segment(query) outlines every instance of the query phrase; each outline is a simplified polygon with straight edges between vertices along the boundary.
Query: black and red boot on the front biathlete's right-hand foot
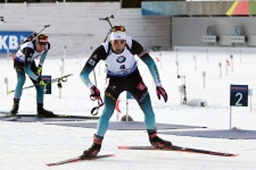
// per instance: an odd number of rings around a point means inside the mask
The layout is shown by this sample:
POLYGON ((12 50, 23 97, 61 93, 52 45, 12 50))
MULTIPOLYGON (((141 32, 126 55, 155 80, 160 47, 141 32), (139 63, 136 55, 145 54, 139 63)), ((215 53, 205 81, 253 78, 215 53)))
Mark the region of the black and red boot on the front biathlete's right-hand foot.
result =
POLYGON ((148 131, 148 136, 149 136, 149 141, 151 145, 155 148, 159 149, 170 149, 172 148, 173 144, 170 141, 163 140, 160 137, 158 137, 157 130, 147 130, 148 131))

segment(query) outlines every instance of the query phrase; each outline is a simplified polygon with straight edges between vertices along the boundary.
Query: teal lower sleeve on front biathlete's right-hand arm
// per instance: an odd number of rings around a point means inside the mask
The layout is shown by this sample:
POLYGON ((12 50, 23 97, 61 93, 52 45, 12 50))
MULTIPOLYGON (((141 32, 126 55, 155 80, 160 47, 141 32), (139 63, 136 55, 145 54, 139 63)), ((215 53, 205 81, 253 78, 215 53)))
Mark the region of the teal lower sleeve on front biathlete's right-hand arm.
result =
POLYGON ((144 54, 143 56, 140 57, 140 59, 149 68, 149 71, 154 79, 155 85, 160 86, 161 81, 160 81, 160 76, 159 76, 159 72, 158 72, 158 67, 157 67, 155 61, 152 59, 152 57, 149 54, 144 54))

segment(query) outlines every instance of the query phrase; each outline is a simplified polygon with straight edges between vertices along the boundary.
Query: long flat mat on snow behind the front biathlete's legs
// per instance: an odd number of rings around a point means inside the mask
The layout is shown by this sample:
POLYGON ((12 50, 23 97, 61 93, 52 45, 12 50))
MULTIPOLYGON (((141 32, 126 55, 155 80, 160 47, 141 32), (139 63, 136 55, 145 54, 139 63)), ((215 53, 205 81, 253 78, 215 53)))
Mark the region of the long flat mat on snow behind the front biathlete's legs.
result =
MULTIPOLYGON (((80 127, 80 128, 93 128, 96 129, 97 122, 59 122, 59 123, 47 123, 60 126, 70 126, 70 127, 80 127)), ((187 126, 187 125, 177 125, 177 124, 156 124, 158 130, 164 129, 191 129, 191 128, 206 128, 200 126, 187 126)), ((109 130, 145 130, 144 122, 140 121, 110 121, 109 130)))

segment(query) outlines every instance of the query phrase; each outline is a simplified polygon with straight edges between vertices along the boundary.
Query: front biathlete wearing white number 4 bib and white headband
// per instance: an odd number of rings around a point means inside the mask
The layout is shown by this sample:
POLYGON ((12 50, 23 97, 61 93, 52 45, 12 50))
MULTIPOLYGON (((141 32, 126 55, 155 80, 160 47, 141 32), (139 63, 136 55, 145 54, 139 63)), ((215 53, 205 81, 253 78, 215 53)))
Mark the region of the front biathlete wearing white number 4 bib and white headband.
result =
POLYGON ((161 85, 156 63, 149 55, 149 51, 136 40, 128 37, 125 28, 115 26, 110 34, 110 41, 102 43, 89 57, 80 73, 83 83, 91 90, 91 96, 100 99, 100 91, 93 85, 89 74, 96 67, 99 60, 105 62, 109 84, 104 93, 104 108, 98 120, 97 132, 94 135, 92 146, 83 152, 83 157, 95 157, 101 148, 101 142, 105 135, 109 119, 114 113, 115 103, 122 91, 129 91, 138 102, 145 115, 145 126, 152 146, 157 148, 170 148, 172 143, 158 137, 155 114, 152 109, 150 95, 144 84, 137 66, 135 55, 138 56, 149 68, 157 89, 158 99, 163 97, 167 102, 167 94, 161 85))

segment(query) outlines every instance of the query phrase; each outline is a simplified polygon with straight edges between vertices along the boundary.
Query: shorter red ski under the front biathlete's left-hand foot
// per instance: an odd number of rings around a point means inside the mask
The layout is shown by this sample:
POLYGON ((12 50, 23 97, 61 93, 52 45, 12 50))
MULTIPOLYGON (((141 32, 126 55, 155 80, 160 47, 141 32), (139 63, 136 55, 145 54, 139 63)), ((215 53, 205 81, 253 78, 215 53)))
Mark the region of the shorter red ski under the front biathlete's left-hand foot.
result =
POLYGON ((107 157, 112 157, 112 156, 115 156, 115 154, 102 154, 102 155, 98 155, 94 158, 82 158, 81 156, 78 156, 78 157, 66 159, 66 160, 59 161, 59 162, 48 163, 46 165, 48 167, 52 167, 52 166, 75 163, 75 162, 80 162, 80 161, 90 161, 90 160, 96 160, 96 159, 101 159, 101 158, 107 158, 107 157))

